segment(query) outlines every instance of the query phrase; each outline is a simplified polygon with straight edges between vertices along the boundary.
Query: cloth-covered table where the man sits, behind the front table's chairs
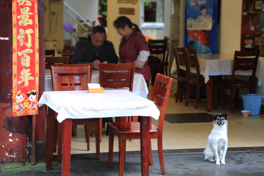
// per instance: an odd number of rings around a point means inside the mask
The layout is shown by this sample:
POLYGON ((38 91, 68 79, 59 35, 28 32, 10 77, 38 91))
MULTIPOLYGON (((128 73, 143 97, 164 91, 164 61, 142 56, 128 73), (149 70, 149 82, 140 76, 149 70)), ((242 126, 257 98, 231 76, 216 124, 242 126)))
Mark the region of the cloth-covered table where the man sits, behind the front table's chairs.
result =
MULTIPOLYGON (((99 84, 99 70, 93 69, 91 76, 91 83, 99 84)), ((127 88, 129 89, 129 88, 127 88)), ((50 69, 45 69, 45 91, 52 91, 52 79, 50 69)), ((144 79, 140 73, 134 73, 133 90, 135 94, 147 98, 149 90, 144 79)))

